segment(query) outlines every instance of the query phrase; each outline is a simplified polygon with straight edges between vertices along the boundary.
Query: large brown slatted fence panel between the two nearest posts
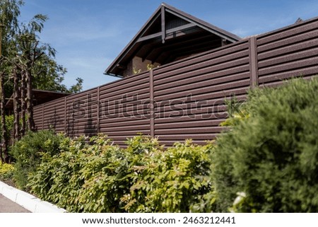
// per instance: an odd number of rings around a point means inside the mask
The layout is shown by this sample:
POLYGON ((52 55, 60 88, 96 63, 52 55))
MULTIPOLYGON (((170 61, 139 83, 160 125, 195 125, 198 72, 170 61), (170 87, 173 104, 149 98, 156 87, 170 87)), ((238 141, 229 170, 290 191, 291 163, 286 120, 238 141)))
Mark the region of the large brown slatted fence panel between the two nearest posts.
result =
POLYGON ((155 136, 163 144, 214 139, 228 116, 224 100, 249 89, 249 42, 153 70, 155 136))

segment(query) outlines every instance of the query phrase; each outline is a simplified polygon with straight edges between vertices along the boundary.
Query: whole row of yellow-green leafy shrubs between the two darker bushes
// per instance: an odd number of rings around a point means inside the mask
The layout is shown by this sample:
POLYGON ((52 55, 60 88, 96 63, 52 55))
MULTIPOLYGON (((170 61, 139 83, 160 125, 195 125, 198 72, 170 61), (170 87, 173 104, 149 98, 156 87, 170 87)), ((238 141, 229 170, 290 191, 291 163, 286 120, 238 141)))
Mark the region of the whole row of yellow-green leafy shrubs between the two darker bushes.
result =
MULTIPOLYGON (((211 190, 211 144, 190 141, 164 151, 157 139, 135 136, 126 149, 106 136, 65 138, 29 177, 31 191, 71 212, 188 212, 211 190)), ((197 206, 196 206, 197 204, 197 206)))

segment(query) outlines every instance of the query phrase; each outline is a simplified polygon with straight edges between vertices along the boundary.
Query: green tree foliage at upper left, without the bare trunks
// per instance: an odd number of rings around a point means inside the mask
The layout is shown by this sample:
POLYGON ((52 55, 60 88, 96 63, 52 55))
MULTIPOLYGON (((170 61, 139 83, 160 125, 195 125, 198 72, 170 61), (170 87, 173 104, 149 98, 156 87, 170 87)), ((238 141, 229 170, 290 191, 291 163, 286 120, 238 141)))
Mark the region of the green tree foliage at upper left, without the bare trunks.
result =
MULTIPOLYGON (((48 17, 37 14, 28 23, 19 23, 18 16, 23 4, 24 2, 20 0, 0 1, 0 23, 4 25, 2 28, 2 55, 7 59, 6 62, 1 63, 1 71, 6 71, 7 75, 12 74, 12 67, 14 63, 20 61, 18 57, 23 54, 25 48, 30 49, 37 45, 39 48, 36 55, 41 56, 37 64, 33 66, 33 76, 35 77, 33 88, 65 93, 81 91, 81 84, 83 83, 81 78, 77 79, 76 84, 71 88, 66 88, 62 84, 67 70, 55 61, 56 50, 51 45, 40 41, 40 33, 48 17), (45 52, 45 54, 42 54, 42 52, 45 52)), ((12 94, 12 89, 13 83, 7 81, 6 97, 12 94)))

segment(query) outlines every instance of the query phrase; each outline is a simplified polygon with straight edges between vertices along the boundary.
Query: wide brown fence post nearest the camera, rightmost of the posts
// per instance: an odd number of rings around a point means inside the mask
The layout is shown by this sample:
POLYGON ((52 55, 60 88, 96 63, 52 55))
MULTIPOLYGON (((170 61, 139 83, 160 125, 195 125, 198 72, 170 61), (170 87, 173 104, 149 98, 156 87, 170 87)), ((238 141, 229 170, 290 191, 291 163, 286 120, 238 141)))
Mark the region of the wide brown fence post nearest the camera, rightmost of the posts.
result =
POLYGON ((250 86, 255 88, 259 85, 259 69, 257 61, 257 38, 255 36, 249 38, 249 72, 250 86))

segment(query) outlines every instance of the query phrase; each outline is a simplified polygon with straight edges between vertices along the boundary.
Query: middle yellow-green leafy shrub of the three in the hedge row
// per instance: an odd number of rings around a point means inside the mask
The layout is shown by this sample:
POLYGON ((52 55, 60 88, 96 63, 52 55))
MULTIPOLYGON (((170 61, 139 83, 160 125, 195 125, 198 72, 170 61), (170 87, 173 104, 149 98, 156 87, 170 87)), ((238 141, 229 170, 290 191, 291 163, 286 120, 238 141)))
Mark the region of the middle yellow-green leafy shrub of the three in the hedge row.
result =
POLYGON ((85 212, 123 212, 122 197, 136 181, 131 177, 134 167, 143 165, 148 153, 159 147, 156 139, 141 135, 126 143, 126 149, 105 147, 102 155, 91 157, 83 169, 87 180, 79 199, 85 212))

